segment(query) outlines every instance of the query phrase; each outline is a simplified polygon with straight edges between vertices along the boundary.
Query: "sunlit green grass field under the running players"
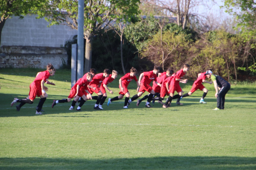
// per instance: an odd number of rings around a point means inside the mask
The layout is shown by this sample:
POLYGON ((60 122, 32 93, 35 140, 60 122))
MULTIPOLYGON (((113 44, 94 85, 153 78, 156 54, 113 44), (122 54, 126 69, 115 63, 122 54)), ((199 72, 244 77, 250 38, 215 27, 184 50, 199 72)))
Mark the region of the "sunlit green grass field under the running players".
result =
MULTIPOLYGON (((255 83, 231 85, 225 110, 212 110, 214 87, 204 84, 207 104, 199 104, 203 92, 196 91, 183 106, 172 102, 167 109, 136 107, 135 101, 123 109, 123 99, 109 107, 106 100, 97 111, 90 100, 78 112, 68 110, 71 102, 51 108, 71 89, 70 71, 57 70, 44 114, 35 114, 39 99, 17 112, 11 101, 28 95, 38 71, 0 69, 0 170, 256 169, 255 83)), ((110 98, 118 96, 118 79, 109 84, 110 98)), ((181 84, 183 91, 192 84, 181 84)), ((134 81, 128 88, 136 94, 134 81)))

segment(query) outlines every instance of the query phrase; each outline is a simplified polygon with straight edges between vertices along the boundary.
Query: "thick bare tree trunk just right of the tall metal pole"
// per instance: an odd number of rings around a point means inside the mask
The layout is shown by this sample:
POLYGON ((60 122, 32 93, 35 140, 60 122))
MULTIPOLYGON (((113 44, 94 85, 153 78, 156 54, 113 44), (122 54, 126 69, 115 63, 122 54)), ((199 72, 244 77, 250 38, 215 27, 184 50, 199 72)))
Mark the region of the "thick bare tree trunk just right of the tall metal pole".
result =
POLYGON ((84 74, 91 69, 91 56, 92 56, 92 38, 86 39, 85 44, 85 60, 84 60, 84 74))

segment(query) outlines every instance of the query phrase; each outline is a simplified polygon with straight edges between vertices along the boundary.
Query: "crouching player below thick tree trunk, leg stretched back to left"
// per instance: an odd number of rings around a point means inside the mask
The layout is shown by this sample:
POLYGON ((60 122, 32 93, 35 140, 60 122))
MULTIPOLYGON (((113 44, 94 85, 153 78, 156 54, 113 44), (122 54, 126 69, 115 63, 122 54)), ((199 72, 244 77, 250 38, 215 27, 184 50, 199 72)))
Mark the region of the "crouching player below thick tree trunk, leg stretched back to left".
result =
MULTIPOLYGON (((77 107, 77 111, 81 111, 81 107, 83 106, 84 102, 87 100, 86 95, 89 94, 89 91, 87 88, 93 88, 92 86, 89 86, 89 83, 92 79, 92 74, 91 73, 86 73, 86 76, 83 76, 81 79, 78 79, 76 81, 76 84, 71 88, 70 94, 68 96, 68 99, 61 99, 61 100, 53 100, 52 103, 52 108, 57 104, 57 103, 66 103, 70 102, 71 99, 75 97, 75 99, 72 101, 71 107, 69 110, 73 110, 74 106, 76 105, 76 101, 78 101, 79 97, 81 97, 81 102, 79 106, 77 107)), ((89 96, 91 98, 91 96, 89 96)))

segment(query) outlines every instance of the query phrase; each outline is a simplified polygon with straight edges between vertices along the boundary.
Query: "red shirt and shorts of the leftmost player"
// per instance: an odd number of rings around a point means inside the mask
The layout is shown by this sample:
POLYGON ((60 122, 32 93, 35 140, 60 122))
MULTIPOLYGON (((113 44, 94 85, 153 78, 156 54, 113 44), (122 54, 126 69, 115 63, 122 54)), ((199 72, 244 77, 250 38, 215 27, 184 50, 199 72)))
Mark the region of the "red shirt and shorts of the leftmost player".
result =
POLYGON ((44 80, 44 82, 48 81, 48 78, 50 77, 49 71, 42 71, 40 72, 37 77, 34 79, 34 81, 29 85, 29 99, 34 100, 36 99, 36 96, 42 95, 42 87, 41 87, 41 81, 44 80))

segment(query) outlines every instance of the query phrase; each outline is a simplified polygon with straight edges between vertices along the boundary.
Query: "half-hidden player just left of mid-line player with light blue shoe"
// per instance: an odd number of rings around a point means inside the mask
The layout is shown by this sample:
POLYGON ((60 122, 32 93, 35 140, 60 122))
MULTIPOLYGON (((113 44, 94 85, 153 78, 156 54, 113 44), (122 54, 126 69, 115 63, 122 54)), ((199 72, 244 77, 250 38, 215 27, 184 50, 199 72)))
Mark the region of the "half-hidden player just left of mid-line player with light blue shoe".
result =
POLYGON ((114 92, 112 90, 110 90, 107 87, 107 84, 111 83, 113 80, 115 80, 118 77, 118 72, 115 70, 112 70, 112 74, 110 74, 107 78, 105 78, 102 82, 102 84, 100 85, 99 89, 100 91, 103 93, 102 99, 99 103, 99 108, 102 108, 102 104, 105 102, 105 100, 107 99, 107 91, 110 92, 110 94, 114 94, 114 92))

